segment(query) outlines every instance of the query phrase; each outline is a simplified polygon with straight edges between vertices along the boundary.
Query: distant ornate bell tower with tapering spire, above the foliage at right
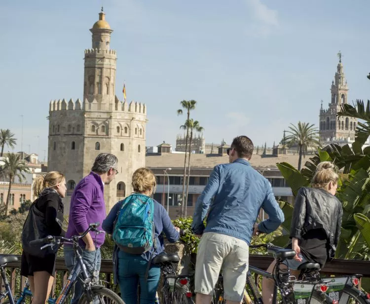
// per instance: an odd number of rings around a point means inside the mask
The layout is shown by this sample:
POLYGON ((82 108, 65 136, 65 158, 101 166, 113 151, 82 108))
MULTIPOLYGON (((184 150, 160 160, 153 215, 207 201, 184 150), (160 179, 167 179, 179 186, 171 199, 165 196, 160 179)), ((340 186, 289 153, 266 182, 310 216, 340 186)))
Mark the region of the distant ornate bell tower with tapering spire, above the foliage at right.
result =
POLYGON ((336 116, 340 111, 340 105, 348 102, 348 85, 344 76, 340 52, 338 57, 339 63, 332 81, 332 99, 329 103, 329 109, 324 110, 322 103, 320 109, 320 142, 324 146, 331 143, 345 145, 355 138, 357 118, 341 116, 338 119, 336 116))

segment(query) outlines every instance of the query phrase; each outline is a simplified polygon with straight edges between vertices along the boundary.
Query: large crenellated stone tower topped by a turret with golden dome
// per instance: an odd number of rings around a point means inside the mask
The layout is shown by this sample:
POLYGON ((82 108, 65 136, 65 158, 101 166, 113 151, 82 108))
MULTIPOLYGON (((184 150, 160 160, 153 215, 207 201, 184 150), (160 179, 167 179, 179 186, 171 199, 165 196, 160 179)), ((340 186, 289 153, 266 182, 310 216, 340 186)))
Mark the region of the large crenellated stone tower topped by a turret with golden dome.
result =
POLYGON ((145 166, 146 105, 120 101, 114 95, 116 52, 105 13, 90 30, 92 48, 85 50, 83 102, 52 100, 49 108, 48 171, 66 175, 65 214, 75 185, 89 174, 95 157, 118 157, 118 174, 105 186, 107 211, 132 192, 133 172, 145 166))

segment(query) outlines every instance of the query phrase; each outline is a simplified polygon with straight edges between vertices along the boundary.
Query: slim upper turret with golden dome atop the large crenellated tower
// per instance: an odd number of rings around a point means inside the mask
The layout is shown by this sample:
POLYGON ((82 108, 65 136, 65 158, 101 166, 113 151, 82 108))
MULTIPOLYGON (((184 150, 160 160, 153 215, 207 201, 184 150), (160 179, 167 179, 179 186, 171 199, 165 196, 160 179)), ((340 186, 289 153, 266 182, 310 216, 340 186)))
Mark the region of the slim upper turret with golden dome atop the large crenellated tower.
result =
POLYGON ((117 56, 110 49, 111 30, 105 20, 105 13, 99 13, 99 20, 92 29, 92 48, 85 50, 83 99, 98 103, 98 108, 107 108, 114 103, 114 86, 117 56))

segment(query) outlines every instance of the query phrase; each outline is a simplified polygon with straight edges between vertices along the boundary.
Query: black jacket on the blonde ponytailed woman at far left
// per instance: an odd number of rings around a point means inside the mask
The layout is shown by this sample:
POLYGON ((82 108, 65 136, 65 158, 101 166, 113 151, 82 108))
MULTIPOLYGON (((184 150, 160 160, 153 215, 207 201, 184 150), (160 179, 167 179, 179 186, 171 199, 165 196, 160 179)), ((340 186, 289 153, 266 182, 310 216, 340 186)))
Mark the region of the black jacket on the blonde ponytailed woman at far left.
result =
POLYGON ((57 191, 45 188, 37 197, 36 208, 45 214, 45 223, 48 234, 64 235, 62 229, 64 205, 57 191))

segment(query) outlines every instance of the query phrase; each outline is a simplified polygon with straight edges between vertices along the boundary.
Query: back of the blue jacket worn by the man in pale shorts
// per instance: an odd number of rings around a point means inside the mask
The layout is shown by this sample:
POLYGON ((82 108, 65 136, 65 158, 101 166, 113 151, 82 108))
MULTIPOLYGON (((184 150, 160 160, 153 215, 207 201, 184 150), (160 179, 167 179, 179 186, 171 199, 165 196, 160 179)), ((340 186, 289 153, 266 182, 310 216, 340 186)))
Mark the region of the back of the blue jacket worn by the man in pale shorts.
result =
MULTIPOLYGON (((220 186, 210 205, 204 232, 224 233, 249 244, 261 207, 268 210, 272 207, 270 212, 276 211, 281 216, 279 206, 269 204, 275 201, 271 185, 243 158, 218 165, 214 171, 218 172, 220 186)), ((277 226, 280 223, 281 218, 276 219, 277 226)))

